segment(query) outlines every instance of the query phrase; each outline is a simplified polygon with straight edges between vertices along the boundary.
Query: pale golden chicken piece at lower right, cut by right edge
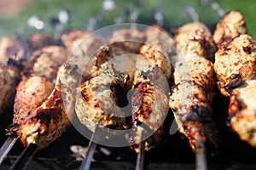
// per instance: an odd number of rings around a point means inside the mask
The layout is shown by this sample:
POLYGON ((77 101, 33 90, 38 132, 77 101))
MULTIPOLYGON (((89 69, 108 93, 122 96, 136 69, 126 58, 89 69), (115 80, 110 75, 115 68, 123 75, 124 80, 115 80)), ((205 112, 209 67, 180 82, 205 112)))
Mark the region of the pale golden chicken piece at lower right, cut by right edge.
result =
POLYGON ((247 80, 247 84, 234 89, 230 96, 230 126, 241 140, 256 148, 256 81, 247 80))

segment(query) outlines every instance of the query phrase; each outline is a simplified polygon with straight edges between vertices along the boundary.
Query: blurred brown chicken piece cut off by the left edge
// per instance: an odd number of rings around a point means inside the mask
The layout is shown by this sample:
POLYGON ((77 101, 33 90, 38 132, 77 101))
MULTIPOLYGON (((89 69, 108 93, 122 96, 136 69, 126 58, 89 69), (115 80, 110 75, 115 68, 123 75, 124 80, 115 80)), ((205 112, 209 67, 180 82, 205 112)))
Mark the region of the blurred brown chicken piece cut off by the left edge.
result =
POLYGON ((9 105, 13 105, 19 80, 20 74, 15 67, 0 65, 0 115, 9 105))

